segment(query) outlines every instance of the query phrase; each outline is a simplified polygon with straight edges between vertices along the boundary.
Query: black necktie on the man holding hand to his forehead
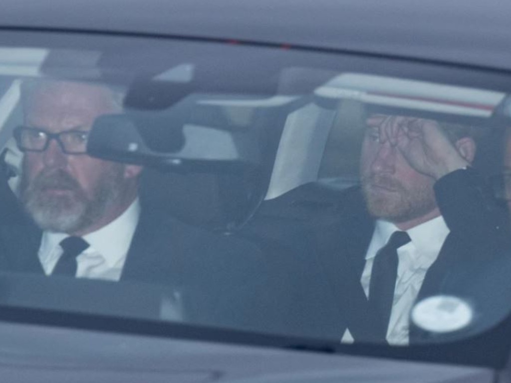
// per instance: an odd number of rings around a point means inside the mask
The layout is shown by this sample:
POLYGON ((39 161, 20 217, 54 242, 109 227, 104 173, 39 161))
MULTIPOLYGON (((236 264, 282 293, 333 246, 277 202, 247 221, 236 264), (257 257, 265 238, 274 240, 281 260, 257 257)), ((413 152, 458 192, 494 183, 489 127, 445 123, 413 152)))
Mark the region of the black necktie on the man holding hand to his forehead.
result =
POLYGON ((387 336, 396 278, 398 276, 398 248, 410 242, 406 232, 394 232, 387 244, 377 253, 369 283, 369 313, 374 318, 380 341, 387 336))

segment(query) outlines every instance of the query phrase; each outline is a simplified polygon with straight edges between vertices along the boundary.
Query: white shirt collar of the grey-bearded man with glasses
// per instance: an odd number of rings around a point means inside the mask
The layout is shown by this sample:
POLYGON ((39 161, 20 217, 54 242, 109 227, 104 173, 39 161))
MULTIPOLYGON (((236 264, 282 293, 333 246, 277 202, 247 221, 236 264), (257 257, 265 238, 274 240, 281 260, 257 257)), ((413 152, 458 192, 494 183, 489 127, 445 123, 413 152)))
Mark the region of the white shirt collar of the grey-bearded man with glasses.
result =
MULTIPOLYGON (((140 201, 135 199, 133 203, 106 226, 83 236, 90 245, 84 253, 99 252, 109 267, 115 266, 119 260, 126 256, 135 228, 140 217, 140 201)), ((60 246, 60 241, 68 234, 43 232, 41 239, 41 253, 50 254, 53 249, 60 246)))

